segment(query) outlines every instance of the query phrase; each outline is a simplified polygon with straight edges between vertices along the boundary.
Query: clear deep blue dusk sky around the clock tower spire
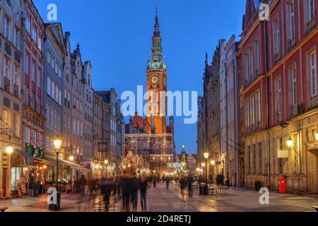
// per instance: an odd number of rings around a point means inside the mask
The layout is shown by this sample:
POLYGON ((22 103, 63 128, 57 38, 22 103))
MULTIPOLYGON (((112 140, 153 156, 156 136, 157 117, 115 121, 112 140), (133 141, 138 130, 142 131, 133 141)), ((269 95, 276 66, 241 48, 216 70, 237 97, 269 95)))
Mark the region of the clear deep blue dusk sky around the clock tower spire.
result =
MULTIPOLYGON (((151 56, 155 6, 163 56, 167 62, 167 88, 203 93, 205 53, 209 62, 221 38, 240 35, 245 0, 33 0, 45 23, 47 5, 57 5, 57 22, 71 32, 72 50, 81 46, 83 61, 93 64, 93 87, 125 90, 146 86, 151 56)), ((196 153, 196 124, 175 118, 176 151, 182 145, 196 153)))

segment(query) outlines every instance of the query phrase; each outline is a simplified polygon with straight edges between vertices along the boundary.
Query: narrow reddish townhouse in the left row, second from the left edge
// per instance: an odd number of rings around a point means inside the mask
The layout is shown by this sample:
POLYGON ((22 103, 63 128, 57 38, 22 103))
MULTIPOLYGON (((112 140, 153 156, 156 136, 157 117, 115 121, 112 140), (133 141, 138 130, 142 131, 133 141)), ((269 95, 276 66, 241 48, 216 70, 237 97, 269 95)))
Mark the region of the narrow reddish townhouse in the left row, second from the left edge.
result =
POLYGON ((43 126, 43 64, 44 24, 33 1, 24 0, 24 73, 23 73, 23 148, 42 148, 43 126))

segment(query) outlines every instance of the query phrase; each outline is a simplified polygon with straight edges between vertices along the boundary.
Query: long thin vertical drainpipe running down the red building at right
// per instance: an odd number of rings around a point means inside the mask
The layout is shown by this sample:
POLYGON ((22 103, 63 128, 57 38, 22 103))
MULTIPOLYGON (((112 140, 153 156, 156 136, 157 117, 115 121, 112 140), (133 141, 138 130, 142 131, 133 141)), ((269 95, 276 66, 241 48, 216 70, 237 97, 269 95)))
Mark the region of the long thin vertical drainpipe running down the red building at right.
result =
POLYGON ((266 20, 264 21, 264 61, 265 61, 265 80, 266 80, 266 139, 267 139, 267 177, 269 189, 271 188, 271 148, 270 148, 270 138, 269 138, 269 78, 267 77, 268 62, 267 62, 267 30, 266 30, 266 20))

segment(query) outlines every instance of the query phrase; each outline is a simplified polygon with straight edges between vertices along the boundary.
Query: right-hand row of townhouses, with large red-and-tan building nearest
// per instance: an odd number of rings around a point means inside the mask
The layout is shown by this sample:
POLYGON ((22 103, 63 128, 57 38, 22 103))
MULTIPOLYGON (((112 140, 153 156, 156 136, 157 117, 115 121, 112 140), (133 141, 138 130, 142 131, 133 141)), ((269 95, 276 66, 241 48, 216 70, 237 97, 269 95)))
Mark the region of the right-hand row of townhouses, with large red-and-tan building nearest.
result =
MULTIPOLYGON (((278 179, 284 178, 289 192, 317 194, 318 4, 312 0, 261 3, 269 6, 269 20, 260 20, 259 5, 247 0, 241 38, 235 42, 231 37, 224 49, 225 74, 232 83, 225 87, 227 95, 222 91, 223 68, 218 69, 220 107, 225 97, 227 112, 216 113, 221 121, 220 153, 225 153, 223 173, 233 186, 254 187, 259 181, 276 190, 278 179)), ((206 98, 211 97, 201 97, 206 98)), ((204 112, 206 106, 201 108, 204 112)), ((199 117, 198 129, 203 121, 199 117)), ((198 135, 202 153, 206 145, 201 140, 198 135)))

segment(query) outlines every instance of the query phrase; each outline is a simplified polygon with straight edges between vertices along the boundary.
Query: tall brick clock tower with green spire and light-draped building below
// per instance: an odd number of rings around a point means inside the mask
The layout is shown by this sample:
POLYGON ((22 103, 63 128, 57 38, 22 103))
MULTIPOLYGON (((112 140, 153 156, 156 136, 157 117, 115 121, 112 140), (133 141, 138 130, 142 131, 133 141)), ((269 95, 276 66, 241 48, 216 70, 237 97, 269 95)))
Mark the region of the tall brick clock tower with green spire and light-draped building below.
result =
POLYGON ((153 54, 147 66, 147 115, 144 119, 136 113, 130 122, 132 128, 141 128, 143 133, 125 134, 125 148, 126 153, 148 151, 151 170, 162 175, 167 163, 173 162, 175 156, 175 121, 170 117, 167 125, 167 108, 163 107, 167 106, 167 97, 162 95, 167 92, 167 68, 163 61, 157 12, 152 40, 153 54))

